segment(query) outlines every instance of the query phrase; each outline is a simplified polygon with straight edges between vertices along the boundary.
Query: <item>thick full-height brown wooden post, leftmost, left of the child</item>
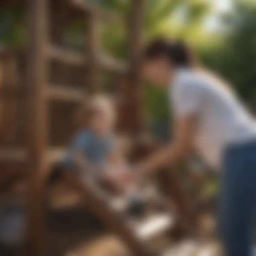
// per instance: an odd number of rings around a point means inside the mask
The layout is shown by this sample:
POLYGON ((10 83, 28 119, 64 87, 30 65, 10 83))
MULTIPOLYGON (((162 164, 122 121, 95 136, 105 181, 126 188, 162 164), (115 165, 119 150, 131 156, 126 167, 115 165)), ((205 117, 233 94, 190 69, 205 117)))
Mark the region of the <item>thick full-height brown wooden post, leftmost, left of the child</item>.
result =
POLYGON ((48 0, 28 1, 28 136, 30 180, 28 189, 28 251, 26 255, 45 255, 42 188, 36 186, 39 174, 46 170, 48 0))

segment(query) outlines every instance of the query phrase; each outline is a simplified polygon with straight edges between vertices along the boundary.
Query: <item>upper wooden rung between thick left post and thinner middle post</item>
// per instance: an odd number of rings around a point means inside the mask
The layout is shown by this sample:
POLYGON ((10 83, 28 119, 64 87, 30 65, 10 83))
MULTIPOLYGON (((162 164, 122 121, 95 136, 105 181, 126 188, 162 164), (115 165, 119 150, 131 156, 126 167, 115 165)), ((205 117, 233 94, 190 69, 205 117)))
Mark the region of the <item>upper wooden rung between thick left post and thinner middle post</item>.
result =
POLYGON ((68 65, 84 65, 86 59, 83 54, 62 47, 50 45, 47 47, 47 54, 50 58, 64 62, 68 65))

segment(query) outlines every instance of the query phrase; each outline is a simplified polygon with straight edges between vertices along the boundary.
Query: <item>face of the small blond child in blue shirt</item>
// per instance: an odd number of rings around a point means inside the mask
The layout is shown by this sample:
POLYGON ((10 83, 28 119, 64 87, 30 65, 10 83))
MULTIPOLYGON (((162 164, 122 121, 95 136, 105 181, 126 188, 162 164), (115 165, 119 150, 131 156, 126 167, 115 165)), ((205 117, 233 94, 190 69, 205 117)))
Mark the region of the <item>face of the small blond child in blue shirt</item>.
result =
POLYGON ((98 112, 93 114, 90 126, 98 134, 110 133, 114 126, 111 113, 98 112))

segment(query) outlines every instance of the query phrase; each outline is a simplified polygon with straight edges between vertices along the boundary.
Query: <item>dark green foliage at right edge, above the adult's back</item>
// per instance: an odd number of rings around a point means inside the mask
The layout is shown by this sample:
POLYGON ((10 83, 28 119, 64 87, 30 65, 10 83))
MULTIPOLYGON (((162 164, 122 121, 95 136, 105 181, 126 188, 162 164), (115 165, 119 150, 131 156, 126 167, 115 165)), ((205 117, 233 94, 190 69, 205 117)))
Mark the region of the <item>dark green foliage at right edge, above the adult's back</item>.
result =
POLYGON ((201 51, 203 62, 222 74, 248 104, 256 98, 256 5, 237 2, 222 44, 201 51))

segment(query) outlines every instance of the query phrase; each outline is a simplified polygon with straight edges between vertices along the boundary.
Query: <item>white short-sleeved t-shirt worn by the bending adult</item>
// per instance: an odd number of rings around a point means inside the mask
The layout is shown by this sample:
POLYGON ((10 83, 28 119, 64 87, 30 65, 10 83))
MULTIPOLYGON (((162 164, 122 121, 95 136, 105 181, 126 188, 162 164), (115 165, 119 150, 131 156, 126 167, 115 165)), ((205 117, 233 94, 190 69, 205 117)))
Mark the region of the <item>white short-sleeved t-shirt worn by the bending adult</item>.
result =
POLYGON ((210 75, 177 70, 170 91, 175 116, 196 114, 194 147, 209 165, 219 166, 229 143, 256 138, 254 119, 231 90, 210 75))

